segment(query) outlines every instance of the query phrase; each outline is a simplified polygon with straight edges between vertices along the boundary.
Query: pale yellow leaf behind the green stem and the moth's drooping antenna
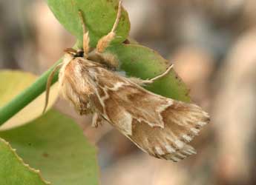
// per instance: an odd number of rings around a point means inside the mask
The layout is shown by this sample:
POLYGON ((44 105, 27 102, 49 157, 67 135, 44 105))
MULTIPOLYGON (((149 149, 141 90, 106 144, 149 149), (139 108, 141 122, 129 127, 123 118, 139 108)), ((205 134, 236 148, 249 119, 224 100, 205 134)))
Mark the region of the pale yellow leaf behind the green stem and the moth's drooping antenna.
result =
MULTIPOLYGON (((33 84, 33 82, 36 81, 36 78, 36 75, 18 70, 0 70, 0 110, 1 107, 4 107, 5 104, 13 99, 13 97, 19 95, 19 93, 29 87, 30 84, 33 84)), ((51 87, 48 108, 52 107, 53 103, 56 101, 58 91, 57 84, 51 87)), ((28 97, 22 96, 19 102, 14 102, 10 108, 13 108, 16 104, 26 98, 28 97)), ((34 101, 24 107, 24 109, 10 118, 10 120, 5 122, 4 125, 0 126, 0 130, 18 127, 38 118, 42 115, 44 105, 45 93, 42 93, 34 101)), ((4 115, 1 115, 1 112, 0 117, 4 117, 4 115)))

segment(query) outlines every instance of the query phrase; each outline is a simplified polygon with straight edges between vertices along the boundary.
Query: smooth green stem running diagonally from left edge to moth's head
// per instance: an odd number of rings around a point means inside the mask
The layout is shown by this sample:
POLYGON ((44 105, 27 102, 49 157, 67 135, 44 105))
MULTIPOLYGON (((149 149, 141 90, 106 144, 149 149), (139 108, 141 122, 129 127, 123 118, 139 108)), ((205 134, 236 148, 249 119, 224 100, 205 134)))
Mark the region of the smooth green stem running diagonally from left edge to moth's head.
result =
MULTIPOLYGON (((53 68, 62 61, 60 59, 50 67, 44 74, 42 74, 30 87, 27 87, 24 91, 22 91, 19 95, 16 95, 10 102, 5 104, 0 108, 0 126, 5 123, 8 119, 12 118, 13 115, 16 115, 17 112, 22 110, 27 104, 30 104, 35 98, 45 92, 45 87, 47 83, 48 75, 53 70, 53 68)), ((54 75, 52 84, 54 84, 58 80, 58 74, 54 75)))

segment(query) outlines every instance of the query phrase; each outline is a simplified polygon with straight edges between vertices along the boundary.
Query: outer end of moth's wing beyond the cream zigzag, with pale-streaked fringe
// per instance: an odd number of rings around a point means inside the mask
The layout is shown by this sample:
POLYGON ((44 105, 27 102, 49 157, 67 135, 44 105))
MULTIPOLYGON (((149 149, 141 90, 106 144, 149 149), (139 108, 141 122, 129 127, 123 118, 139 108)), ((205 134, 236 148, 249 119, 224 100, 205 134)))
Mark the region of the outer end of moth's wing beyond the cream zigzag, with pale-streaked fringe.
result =
POLYGON ((174 104, 161 112, 165 127, 150 127, 133 120, 132 135, 134 143, 145 152, 157 158, 180 161, 188 155, 195 154, 188 145, 200 128, 209 122, 209 116, 200 107, 174 101, 174 104))

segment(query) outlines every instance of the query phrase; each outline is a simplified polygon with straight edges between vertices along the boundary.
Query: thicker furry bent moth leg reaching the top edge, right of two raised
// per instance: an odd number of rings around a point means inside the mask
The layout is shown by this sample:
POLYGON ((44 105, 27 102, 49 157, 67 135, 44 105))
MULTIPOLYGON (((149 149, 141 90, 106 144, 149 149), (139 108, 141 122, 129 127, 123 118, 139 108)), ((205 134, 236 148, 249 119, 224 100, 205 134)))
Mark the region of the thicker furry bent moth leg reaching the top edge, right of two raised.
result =
POLYGON ((107 36, 103 36, 102 38, 99 39, 98 44, 96 46, 96 52, 97 53, 103 53, 105 49, 108 47, 109 43, 113 41, 113 39, 116 36, 116 27, 120 21, 121 14, 122 13, 122 1, 119 1, 118 4, 118 11, 116 15, 116 21, 114 23, 114 26, 112 27, 112 30, 110 33, 108 33, 107 36))

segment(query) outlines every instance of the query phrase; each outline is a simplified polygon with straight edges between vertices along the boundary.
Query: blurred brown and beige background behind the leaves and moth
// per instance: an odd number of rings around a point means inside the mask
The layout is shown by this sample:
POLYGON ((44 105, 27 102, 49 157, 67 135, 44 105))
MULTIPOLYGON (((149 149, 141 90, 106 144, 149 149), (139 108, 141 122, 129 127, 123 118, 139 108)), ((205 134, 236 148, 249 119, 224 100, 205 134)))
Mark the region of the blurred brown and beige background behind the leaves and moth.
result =
MULTIPOLYGON (((91 118, 59 100, 99 147, 102 184, 256 184, 256 1, 124 0, 124 7, 131 37, 175 64, 211 124, 193 141, 198 154, 174 164, 144 154, 108 124, 91 128, 91 118)), ((0 68, 42 74, 74 39, 45 1, 0 1, 0 68)))

